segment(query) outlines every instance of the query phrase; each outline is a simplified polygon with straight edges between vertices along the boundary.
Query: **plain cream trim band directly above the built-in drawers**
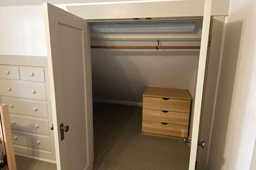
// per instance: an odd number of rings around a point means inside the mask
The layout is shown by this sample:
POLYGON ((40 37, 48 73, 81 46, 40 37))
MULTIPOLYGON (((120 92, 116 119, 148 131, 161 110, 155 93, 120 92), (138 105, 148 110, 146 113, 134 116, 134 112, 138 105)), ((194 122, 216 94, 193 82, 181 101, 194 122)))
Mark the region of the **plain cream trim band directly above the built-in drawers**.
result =
POLYGON ((0 64, 47 67, 47 56, 23 56, 0 54, 0 64))

